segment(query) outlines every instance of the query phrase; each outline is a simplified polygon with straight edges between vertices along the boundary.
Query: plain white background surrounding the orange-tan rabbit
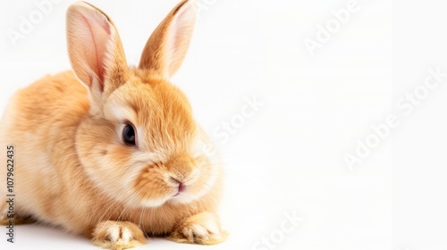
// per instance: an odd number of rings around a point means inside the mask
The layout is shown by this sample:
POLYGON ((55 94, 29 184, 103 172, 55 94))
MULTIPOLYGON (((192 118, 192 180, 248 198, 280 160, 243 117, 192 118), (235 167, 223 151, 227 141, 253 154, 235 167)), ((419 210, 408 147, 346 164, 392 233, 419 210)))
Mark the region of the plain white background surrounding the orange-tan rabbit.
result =
MULTIPOLYGON (((73 1, 52 4, 15 45, 8 36, 44 1, 0 6, 1 110, 16 89, 70 68, 64 14, 73 1)), ((231 235, 203 249, 269 249, 257 245, 262 237, 273 237, 271 249, 446 249, 447 78, 409 115, 396 105, 423 85, 429 68, 447 71, 442 1, 358 0, 358 11, 313 55, 306 38, 316 40, 317 26, 349 1, 198 2, 207 9, 173 78, 197 120, 213 134, 238 117, 246 99, 263 104, 228 141, 214 137, 226 166, 222 217, 231 235), (343 155, 355 154, 358 140, 388 115, 399 117, 399 126, 350 169, 343 155), (284 213, 292 212, 303 221, 279 237, 284 213)), ((137 64, 150 32, 177 1, 91 3, 112 17, 128 62, 137 64)), ((139 249, 161 247, 198 246, 156 238, 139 249)), ((97 249, 40 225, 17 227, 15 244, 1 233, 0 248, 97 249)))

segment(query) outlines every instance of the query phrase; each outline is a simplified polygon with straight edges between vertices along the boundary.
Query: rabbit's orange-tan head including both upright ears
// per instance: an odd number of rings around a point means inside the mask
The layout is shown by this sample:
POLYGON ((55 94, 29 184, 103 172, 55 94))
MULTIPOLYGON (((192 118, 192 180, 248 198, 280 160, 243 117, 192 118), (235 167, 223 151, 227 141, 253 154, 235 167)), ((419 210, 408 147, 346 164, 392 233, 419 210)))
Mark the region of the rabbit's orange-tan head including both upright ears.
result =
POLYGON ((77 154, 89 179, 118 202, 188 204, 219 181, 188 99, 169 82, 190 45, 195 19, 194 2, 178 4, 132 68, 104 12, 84 2, 67 12, 72 70, 88 88, 90 105, 76 135, 77 154))

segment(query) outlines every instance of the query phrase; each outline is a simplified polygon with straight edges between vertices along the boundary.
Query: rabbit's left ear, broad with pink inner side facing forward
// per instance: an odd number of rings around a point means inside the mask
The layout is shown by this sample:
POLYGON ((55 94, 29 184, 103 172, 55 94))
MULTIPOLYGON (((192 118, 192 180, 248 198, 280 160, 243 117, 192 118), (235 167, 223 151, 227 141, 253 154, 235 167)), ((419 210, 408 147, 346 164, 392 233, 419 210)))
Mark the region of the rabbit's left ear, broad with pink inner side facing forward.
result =
POLYGON ((94 99, 126 81, 128 68, 118 31, 97 7, 85 2, 69 7, 67 46, 73 71, 94 99))

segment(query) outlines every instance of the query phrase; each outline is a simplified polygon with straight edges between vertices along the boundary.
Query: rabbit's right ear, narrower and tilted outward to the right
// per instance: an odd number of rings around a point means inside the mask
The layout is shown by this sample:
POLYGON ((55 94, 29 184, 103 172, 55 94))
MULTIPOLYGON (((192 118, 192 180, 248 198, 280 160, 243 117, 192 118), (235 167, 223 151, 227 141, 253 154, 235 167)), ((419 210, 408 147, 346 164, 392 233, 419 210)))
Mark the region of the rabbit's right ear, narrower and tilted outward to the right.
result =
POLYGON ((162 21, 141 54, 139 69, 158 71, 170 78, 185 58, 197 16, 193 0, 184 0, 173 8, 162 21))

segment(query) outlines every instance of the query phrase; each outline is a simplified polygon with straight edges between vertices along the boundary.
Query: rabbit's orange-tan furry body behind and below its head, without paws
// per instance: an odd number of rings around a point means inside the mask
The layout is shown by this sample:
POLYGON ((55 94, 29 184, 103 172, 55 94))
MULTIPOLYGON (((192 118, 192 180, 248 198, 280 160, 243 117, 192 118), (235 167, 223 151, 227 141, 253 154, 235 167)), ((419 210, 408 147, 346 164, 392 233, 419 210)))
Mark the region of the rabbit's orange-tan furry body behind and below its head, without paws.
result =
MULTIPOLYGON (((106 196, 89 180, 76 154, 75 135, 80 121, 89 116, 89 98, 72 71, 39 79, 10 102, 0 122, 0 144, 14 146, 18 217, 31 215, 86 236, 104 220, 132 221, 149 236, 163 235, 186 215, 204 211, 200 204, 213 203, 211 197, 219 196, 210 193, 208 200, 181 208, 165 204, 137 209, 106 196)), ((4 156, 0 155, 2 162, 6 162, 4 156)), ((5 168, 0 171, 5 176, 5 168)))

